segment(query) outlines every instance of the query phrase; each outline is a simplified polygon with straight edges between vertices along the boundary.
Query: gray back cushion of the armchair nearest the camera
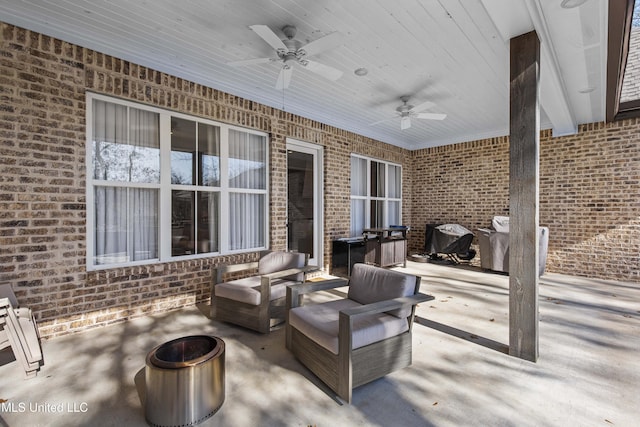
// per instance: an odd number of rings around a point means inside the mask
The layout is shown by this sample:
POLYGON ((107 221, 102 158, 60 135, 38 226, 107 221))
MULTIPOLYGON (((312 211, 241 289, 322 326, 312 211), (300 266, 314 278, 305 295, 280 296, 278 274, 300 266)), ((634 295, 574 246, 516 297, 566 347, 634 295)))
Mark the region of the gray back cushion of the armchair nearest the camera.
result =
MULTIPOLYGON (((386 270, 367 264, 355 264, 349 279, 348 298, 360 304, 371 304, 416 293, 416 276, 386 270)), ((407 317, 411 307, 390 311, 397 317, 407 317)))

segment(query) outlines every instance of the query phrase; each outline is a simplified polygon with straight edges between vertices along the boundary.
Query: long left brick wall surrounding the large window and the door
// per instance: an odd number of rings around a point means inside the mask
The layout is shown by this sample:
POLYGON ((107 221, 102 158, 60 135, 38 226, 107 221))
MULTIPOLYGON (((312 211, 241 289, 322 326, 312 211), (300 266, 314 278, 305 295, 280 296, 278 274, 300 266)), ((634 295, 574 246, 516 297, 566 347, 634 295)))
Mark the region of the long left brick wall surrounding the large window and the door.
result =
POLYGON ((0 282, 44 337, 209 299, 211 269, 256 253, 87 271, 85 95, 93 91, 270 133, 270 247, 286 247, 286 138, 324 146, 325 265, 349 231, 349 154, 405 150, 0 23, 0 282), (356 145, 356 147, 354 147, 356 145))

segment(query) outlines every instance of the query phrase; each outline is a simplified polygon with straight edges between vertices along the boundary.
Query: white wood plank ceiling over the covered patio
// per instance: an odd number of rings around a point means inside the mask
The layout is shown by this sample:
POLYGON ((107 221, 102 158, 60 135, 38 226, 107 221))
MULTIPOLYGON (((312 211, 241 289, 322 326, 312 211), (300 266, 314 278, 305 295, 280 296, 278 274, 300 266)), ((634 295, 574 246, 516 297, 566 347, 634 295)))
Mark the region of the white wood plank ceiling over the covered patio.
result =
POLYGON ((541 125, 554 134, 604 120, 607 1, 561 0, 3 0, 0 20, 408 149, 508 134, 509 39, 542 43, 541 125), (296 64, 275 88, 280 62, 252 31, 303 44, 333 32, 341 43, 310 59, 343 71, 330 81, 296 64), (359 68, 368 70, 357 76, 359 68), (444 120, 400 129, 400 97, 444 120), (378 124, 381 120, 390 119, 378 124))

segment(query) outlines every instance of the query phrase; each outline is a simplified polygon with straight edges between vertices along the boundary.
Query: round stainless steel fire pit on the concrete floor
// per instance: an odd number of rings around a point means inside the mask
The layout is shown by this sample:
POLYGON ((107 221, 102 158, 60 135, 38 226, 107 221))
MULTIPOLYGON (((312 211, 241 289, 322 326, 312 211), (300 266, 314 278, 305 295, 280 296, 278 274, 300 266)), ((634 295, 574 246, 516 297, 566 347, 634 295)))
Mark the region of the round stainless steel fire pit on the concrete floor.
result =
POLYGON ((155 427, 198 424, 222 406, 224 341, 195 335, 168 341, 147 355, 145 418, 155 427))

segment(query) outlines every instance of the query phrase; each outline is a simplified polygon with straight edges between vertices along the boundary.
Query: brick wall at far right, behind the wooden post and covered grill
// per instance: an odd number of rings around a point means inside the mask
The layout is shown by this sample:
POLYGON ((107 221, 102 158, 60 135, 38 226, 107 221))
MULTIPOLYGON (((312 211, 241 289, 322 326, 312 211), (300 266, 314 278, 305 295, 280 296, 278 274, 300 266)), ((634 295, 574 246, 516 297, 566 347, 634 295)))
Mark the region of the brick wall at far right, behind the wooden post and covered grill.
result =
MULTIPOLYGON (((412 170, 410 252, 421 251, 427 223, 475 232, 508 214, 508 137, 417 150, 412 170)), ((539 209, 547 271, 640 282, 640 120, 543 131, 539 209)))

